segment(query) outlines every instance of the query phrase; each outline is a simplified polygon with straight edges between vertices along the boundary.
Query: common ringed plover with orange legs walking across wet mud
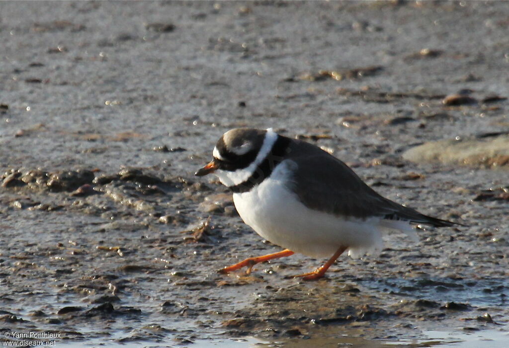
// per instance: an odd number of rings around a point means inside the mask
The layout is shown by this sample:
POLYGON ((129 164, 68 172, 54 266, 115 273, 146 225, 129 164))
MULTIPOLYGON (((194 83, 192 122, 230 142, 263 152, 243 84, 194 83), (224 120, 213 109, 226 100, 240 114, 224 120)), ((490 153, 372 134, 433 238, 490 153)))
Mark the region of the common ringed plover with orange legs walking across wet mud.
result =
POLYGON ((285 250, 248 258, 228 273, 300 252, 330 259, 317 270, 296 275, 323 277, 343 252, 359 257, 383 246, 386 231, 416 239, 410 223, 435 227, 460 225, 404 207, 380 196, 345 163, 319 147, 276 134, 272 129, 238 128, 222 135, 213 159, 195 173, 214 173, 233 192, 244 222, 285 250))

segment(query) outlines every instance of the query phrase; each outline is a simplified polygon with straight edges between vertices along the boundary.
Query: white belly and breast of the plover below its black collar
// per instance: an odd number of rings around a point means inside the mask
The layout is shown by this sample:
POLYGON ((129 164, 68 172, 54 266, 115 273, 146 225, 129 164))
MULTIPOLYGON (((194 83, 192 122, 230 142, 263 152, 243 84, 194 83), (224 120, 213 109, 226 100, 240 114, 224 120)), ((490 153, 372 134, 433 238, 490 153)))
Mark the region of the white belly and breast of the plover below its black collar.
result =
POLYGON ((233 195, 240 217, 260 236, 314 258, 331 257, 341 246, 353 257, 381 249, 380 218, 345 219, 308 209, 282 181, 289 174, 282 162, 250 192, 233 195))

